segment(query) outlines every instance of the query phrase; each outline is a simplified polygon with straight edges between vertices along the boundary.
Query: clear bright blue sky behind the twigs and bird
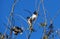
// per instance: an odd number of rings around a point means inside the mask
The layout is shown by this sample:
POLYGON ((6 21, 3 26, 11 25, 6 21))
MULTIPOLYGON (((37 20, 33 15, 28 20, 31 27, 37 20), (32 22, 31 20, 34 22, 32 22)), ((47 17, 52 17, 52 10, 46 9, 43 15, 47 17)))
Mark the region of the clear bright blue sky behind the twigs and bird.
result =
MULTIPOLYGON (((39 1, 37 0, 37 5, 35 4, 36 0, 18 0, 18 2, 15 5, 14 9, 14 14, 19 14, 26 19, 27 16, 31 16, 28 12, 24 11, 24 9, 30 10, 32 13, 36 10, 38 7, 39 1), (36 6, 35 6, 36 5, 36 6)), ((7 23, 7 18, 11 12, 12 4, 14 3, 14 0, 0 0, 0 32, 4 33, 6 27, 3 25, 4 23, 7 23)), ((53 18, 54 15, 60 10, 60 0, 44 0, 44 7, 47 10, 47 20, 48 20, 48 25, 49 25, 49 18, 53 18)), ((58 12, 60 13, 60 11, 58 12)), ((30 39, 40 39, 43 35, 43 28, 39 27, 37 25, 40 22, 43 22, 44 19, 44 13, 42 9, 42 4, 40 4, 40 9, 39 9, 39 15, 36 24, 34 24, 34 29, 37 30, 37 32, 33 32, 31 34, 30 39)), ((15 19, 15 25, 21 27, 20 25, 23 24, 25 28, 28 28, 27 22, 22 19, 19 16, 14 16, 15 19), (19 20, 17 20, 19 19, 19 20), (20 22, 21 21, 21 22, 20 22)), ((57 30, 60 28, 60 15, 57 16, 57 18, 54 19, 54 29, 57 30)), ((9 30, 6 32, 7 34, 9 33, 9 30)), ((28 31, 25 31, 22 35, 17 35, 14 36, 16 39, 26 39, 26 34, 28 34, 28 31)), ((58 36, 55 37, 55 39, 59 39, 58 36)))

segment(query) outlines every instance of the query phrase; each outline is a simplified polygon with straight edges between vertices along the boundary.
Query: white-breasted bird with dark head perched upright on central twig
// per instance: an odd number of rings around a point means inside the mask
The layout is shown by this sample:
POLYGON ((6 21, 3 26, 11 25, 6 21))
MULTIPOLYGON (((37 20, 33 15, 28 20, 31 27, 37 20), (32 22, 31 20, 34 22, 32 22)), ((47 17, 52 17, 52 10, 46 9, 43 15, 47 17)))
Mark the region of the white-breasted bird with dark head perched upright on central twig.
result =
POLYGON ((37 11, 35 11, 35 12, 33 12, 33 15, 31 17, 27 17, 27 19, 28 19, 27 21, 28 21, 28 24, 29 24, 29 30, 31 32, 35 31, 33 29, 32 22, 34 22, 36 20, 37 16, 38 16, 38 13, 37 13, 37 11))

